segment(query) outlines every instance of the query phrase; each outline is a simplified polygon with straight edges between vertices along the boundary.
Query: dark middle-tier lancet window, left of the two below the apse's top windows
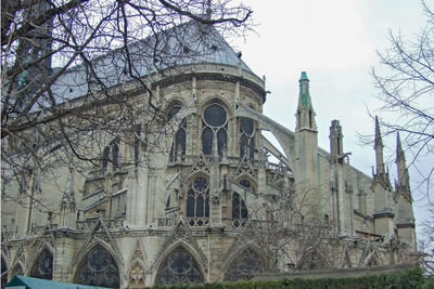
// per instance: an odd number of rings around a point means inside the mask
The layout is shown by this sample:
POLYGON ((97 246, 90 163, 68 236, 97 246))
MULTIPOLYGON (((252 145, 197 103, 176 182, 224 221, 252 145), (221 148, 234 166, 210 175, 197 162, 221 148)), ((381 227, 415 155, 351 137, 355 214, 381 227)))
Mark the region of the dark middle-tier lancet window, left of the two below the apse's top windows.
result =
POLYGON ((195 178, 187 191, 187 218, 191 226, 208 223, 209 187, 205 178, 195 178))

